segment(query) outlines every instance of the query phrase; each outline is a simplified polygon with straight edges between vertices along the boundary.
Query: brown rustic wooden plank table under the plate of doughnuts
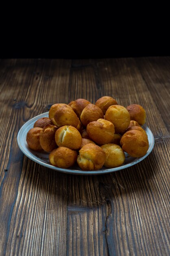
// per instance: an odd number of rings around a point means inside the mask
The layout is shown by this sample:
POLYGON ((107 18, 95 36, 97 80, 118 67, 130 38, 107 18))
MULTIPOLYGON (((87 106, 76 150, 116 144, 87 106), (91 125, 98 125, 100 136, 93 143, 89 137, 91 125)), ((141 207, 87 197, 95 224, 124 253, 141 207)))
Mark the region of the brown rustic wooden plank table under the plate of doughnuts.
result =
POLYGON ((0 255, 170 254, 170 57, 0 61, 0 255), (17 132, 54 103, 109 95, 146 109, 155 137, 139 164, 107 175, 53 171, 17 132))

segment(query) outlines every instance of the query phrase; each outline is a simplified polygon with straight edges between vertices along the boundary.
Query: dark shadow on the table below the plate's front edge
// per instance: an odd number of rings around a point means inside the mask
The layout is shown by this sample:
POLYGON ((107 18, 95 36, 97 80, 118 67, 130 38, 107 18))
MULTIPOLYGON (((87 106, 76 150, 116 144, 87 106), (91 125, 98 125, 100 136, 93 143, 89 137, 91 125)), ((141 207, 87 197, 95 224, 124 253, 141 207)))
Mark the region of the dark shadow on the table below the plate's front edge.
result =
POLYGON ((70 175, 34 163, 35 177, 30 182, 33 182, 38 193, 41 191, 45 197, 48 193, 49 198, 56 201, 67 200, 68 208, 99 207, 124 195, 135 193, 137 197, 141 196, 143 191, 150 190, 153 176, 158 171, 154 154, 153 150, 142 162, 130 168, 103 175, 70 175))

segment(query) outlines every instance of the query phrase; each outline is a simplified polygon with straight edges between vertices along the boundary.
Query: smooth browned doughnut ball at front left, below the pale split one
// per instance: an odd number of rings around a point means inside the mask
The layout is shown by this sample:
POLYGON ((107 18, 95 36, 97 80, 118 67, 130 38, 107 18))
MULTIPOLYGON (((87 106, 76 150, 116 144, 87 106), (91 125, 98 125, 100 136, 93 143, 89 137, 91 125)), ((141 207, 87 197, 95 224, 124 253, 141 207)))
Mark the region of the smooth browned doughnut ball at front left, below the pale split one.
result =
POLYGON ((54 149, 49 155, 50 164, 60 168, 69 168, 76 162, 76 159, 76 151, 65 147, 54 149))

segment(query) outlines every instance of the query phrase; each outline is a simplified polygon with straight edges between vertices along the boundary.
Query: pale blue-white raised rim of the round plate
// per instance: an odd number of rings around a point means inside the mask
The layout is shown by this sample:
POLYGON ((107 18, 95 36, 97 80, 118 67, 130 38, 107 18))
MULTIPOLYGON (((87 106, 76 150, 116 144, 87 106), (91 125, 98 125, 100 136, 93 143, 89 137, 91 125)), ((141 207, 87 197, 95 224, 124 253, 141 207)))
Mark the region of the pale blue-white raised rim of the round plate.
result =
POLYGON ((141 162, 142 160, 144 160, 151 153, 151 151, 153 150, 154 144, 155 144, 155 139, 154 139, 152 131, 148 128, 148 126, 146 126, 146 124, 144 124, 143 127, 147 128, 147 130, 150 134, 151 143, 149 145, 149 148, 148 148, 148 151, 147 151, 146 155, 144 155, 143 157, 136 158, 136 160, 134 160, 131 163, 124 164, 124 165, 121 165, 121 166, 116 167, 116 168, 108 168, 106 170, 97 170, 97 171, 72 170, 72 169, 59 168, 59 167, 56 167, 56 166, 52 166, 51 164, 41 162, 41 160, 38 160, 38 159, 34 158, 31 154, 29 154, 28 153, 29 151, 26 151, 23 148, 22 143, 21 143, 21 138, 20 138, 20 135, 22 134, 22 131, 24 130, 25 126, 28 125, 29 122, 32 122, 34 119, 36 120, 36 119, 39 119, 41 117, 46 117, 46 115, 48 117, 48 113, 49 112, 42 113, 42 114, 37 115, 36 117, 33 117, 33 118, 29 119, 28 121, 26 121, 26 123, 22 125, 22 127, 20 128, 20 130, 17 134, 17 144, 18 144, 20 150, 22 151, 22 153, 24 153, 24 155, 26 155, 29 159, 36 162, 37 164, 40 164, 41 166, 45 166, 45 167, 50 168, 50 169, 55 170, 55 171, 60 171, 62 173, 69 173, 69 174, 75 174, 75 175, 99 175, 99 174, 105 174, 105 173, 113 173, 115 171, 120 171, 120 170, 129 168, 129 167, 141 162))

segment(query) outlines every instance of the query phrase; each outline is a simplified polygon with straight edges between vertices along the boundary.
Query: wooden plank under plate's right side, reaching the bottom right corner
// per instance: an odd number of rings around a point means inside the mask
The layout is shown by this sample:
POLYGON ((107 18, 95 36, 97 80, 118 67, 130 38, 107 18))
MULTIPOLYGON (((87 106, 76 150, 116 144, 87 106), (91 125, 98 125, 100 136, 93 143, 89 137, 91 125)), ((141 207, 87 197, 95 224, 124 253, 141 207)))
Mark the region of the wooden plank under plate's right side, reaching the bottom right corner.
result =
MULTIPOLYGON (((155 105, 154 94, 148 90, 133 59, 98 61, 98 74, 100 74, 103 96, 111 95, 123 106, 132 103, 144 106, 147 112, 146 124, 153 131, 157 142, 153 153, 142 163, 128 168, 127 171, 111 174, 112 179, 114 178, 113 183, 116 182, 117 186, 117 189, 115 184, 111 186, 114 193, 112 197, 110 196, 111 209, 114 209, 111 216, 116 217, 116 220, 108 218, 108 240, 110 245, 118 246, 109 247, 110 255, 114 253, 115 255, 168 255, 169 208, 166 205, 170 192, 168 185, 170 177, 169 172, 167 173, 169 156, 164 155, 162 147, 162 145, 167 147, 167 144, 169 146, 168 130, 155 105), (160 169, 157 168, 158 166, 160 169)), ((166 153, 167 151, 168 149, 166 153)), ((106 194, 108 193, 111 193, 110 187, 106 194)))

